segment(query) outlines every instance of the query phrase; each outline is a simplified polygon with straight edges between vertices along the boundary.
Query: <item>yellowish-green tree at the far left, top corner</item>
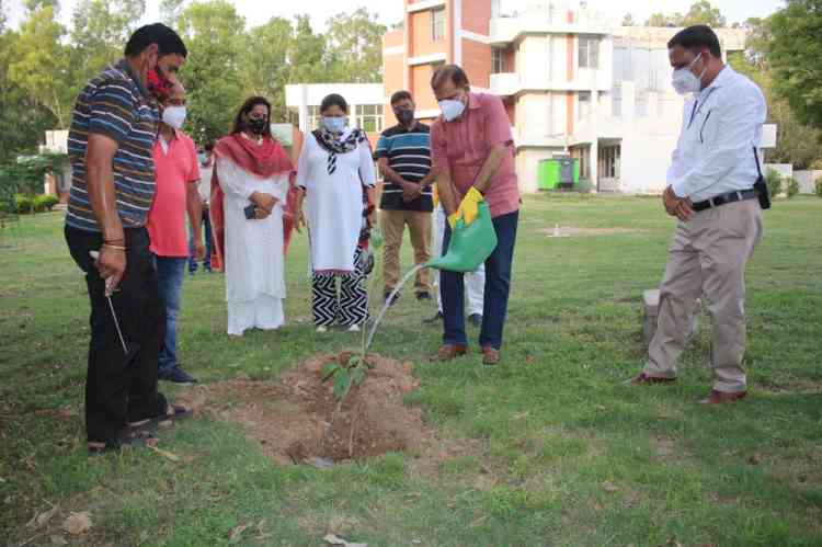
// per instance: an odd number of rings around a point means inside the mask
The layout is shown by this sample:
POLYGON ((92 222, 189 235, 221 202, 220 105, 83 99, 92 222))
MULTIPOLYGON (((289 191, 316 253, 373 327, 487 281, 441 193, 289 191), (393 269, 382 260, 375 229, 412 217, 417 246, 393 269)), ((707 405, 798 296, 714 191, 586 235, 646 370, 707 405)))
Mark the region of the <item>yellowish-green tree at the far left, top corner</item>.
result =
POLYGON ((13 42, 9 80, 28 100, 48 110, 60 128, 67 128, 73 86, 69 73, 69 50, 62 44, 66 30, 55 18, 52 5, 31 12, 13 42))

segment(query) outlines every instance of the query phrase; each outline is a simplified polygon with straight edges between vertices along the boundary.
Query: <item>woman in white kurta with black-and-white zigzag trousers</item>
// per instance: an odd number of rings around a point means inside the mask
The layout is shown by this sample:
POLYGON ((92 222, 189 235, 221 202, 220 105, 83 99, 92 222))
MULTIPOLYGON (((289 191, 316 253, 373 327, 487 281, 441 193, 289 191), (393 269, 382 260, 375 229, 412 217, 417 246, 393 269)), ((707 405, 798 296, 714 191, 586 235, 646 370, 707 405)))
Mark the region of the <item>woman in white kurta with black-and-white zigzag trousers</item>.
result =
POLYGON ((308 201, 311 310, 320 332, 334 322, 356 331, 368 318, 363 252, 357 241, 366 221, 363 192, 374 192, 376 174, 365 134, 345 127, 347 113, 342 96, 331 94, 322 100, 321 126, 306 137, 297 167, 297 187, 301 190, 297 210, 301 210, 304 196, 308 201))

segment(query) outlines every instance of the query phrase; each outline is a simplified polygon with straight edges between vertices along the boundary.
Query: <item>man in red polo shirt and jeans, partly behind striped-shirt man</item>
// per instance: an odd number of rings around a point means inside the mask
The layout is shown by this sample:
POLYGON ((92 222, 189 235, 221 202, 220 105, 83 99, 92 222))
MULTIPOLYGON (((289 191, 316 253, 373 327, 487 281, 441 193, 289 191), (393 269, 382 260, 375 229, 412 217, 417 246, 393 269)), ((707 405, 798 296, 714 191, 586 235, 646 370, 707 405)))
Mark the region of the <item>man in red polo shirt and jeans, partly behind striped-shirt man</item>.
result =
POLYGON ((160 352, 159 378, 194 384, 196 380, 178 364, 176 317, 189 260, 186 210, 194 232, 196 259, 202 260, 205 254, 199 221, 203 204, 197 191, 199 166, 194 141, 180 130, 185 122, 185 89, 174 80, 168 94, 158 96, 158 100, 162 112, 153 149, 157 194, 148 215, 148 232, 160 296, 165 306, 165 340, 160 352))

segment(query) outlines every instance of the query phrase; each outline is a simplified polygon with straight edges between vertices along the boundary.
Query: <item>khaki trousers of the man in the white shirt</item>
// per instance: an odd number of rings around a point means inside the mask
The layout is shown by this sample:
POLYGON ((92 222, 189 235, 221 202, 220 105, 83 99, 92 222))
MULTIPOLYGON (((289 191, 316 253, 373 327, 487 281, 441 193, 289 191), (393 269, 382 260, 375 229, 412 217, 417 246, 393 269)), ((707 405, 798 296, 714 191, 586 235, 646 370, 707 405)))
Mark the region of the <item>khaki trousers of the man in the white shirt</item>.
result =
POLYGON ((744 391, 745 265, 762 239, 762 209, 756 200, 696 213, 680 223, 660 286, 657 333, 644 373, 673 378, 685 347, 694 301, 708 303, 713 337, 713 389, 744 391))

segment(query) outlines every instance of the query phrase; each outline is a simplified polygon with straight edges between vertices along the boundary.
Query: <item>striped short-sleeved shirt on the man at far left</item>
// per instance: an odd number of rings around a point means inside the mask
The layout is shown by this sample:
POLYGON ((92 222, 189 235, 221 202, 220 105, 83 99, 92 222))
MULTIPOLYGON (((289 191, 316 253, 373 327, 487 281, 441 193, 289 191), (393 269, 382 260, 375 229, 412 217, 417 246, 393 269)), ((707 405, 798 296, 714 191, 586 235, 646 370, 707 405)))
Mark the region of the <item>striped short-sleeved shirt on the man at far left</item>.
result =
POLYGON ((155 100, 125 60, 103 70, 80 92, 71 115, 68 153, 71 192, 66 224, 100 231, 89 203, 85 151, 90 134, 117 143, 112 160, 117 213, 124 228, 146 225, 155 197, 155 162, 151 150, 157 138, 155 100))

